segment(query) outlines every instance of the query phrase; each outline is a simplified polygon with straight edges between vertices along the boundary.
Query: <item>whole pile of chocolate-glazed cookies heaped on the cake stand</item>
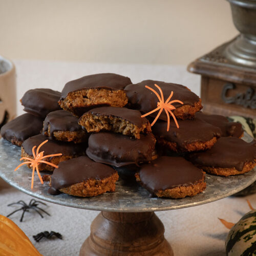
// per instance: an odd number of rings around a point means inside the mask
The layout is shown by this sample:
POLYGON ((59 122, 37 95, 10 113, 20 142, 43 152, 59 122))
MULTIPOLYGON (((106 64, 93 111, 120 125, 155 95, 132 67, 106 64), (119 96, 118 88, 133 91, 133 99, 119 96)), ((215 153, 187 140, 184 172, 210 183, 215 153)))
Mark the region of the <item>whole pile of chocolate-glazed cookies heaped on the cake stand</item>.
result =
POLYGON ((31 114, 24 115, 33 118, 17 117, 1 135, 22 144, 22 156, 33 157, 32 147, 46 139, 41 147, 46 155, 62 153, 48 159, 59 164, 45 178, 51 194, 115 191, 118 171, 127 181, 135 176, 152 195, 183 198, 205 189, 205 172, 238 175, 256 164, 256 142, 240 139, 241 124, 203 114, 201 99, 180 84, 132 84, 128 77, 105 73, 68 82, 54 99, 52 90, 44 90, 50 89, 25 93, 21 101, 31 114))

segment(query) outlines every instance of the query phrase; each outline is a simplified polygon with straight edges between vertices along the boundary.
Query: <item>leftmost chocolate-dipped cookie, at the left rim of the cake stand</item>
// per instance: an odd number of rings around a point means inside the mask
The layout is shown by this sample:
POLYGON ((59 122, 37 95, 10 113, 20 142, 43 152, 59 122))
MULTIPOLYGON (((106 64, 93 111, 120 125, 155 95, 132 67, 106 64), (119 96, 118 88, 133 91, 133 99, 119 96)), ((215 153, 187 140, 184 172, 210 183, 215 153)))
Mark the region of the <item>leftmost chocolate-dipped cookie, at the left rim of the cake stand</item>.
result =
POLYGON ((21 146, 34 135, 40 134, 44 119, 29 113, 20 115, 1 128, 1 136, 12 144, 21 146))

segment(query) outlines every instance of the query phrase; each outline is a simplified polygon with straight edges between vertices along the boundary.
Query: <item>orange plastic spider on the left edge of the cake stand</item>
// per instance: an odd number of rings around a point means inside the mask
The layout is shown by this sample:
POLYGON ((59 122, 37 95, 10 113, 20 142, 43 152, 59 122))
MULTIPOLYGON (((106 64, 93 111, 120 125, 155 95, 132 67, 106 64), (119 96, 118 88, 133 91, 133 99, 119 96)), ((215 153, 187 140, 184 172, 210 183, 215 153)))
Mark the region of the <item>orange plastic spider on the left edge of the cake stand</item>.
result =
POLYGON ((38 164, 39 164, 39 163, 46 163, 46 164, 49 164, 49 165, 51 165, 51 166, 53 166, 53 167, 55 167, 55 168, 58 168, 57 165, 42 160, 42 159, 45 159, 45 158, 47 158, 47 157, 55 157, 55 156, 61 156, 61 155, 62 155, 61 153, 59 153, 59 154, 53 154, 53 155, 44 156, 44 151, 41 151, 41 152, 39 153, 40 147, 41 147, 42 145, 44 145, 46 142, 48 142, 48 140, 45 140, 44 142, 42 142, 42 143, 37 147, 36 154, 35 154, 35 148, 36 148, 36 146, 33 146, 33 148, 32 148, 32 153, 33 153, 34 159, 29 158, 29 157, 22 157, 22 158, 20 158, 19 161, 22 161, 23 159, 29 160, 29 161, 19 164, 19 165, 15 168, 15 170, 14 170, 14 172, 15 172, 20 166, 22 166, 22 165, 24 165, 24 164, 29 164, 29 163, 30 163, 30 166, 33 167, 33 169, 32 169, 31 188, 33 188, 33 184, 34 184, 34 173, 35 173, 35 169, 36 169, 36 172, 37 172, 37 175, 38 175, 38 177, 39 177, 39 180, 40 180, 41 184, 44 183, 44 181, 42 181, 41 175, 40 175, 40 173, 39 173, 39 169, 38 169, 38 164))

